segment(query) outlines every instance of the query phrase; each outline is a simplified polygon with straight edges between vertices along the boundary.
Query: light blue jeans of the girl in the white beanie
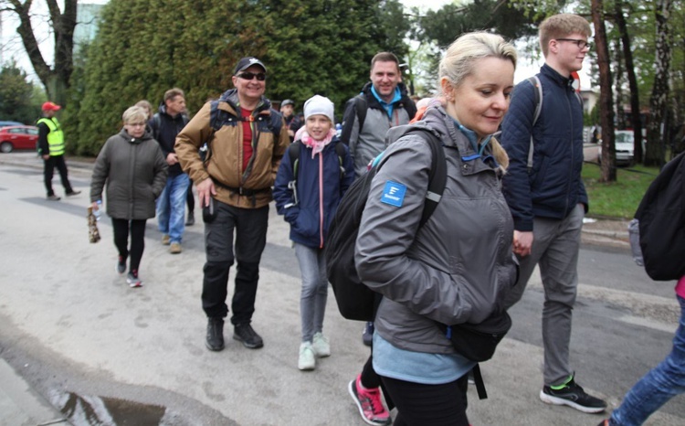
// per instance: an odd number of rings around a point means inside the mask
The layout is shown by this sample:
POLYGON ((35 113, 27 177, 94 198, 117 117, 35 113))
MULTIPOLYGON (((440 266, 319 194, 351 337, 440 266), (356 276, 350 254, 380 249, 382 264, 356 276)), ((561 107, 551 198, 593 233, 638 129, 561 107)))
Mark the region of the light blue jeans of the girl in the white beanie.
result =
POLYGON ((311 342, 315 333, 323 330, 323 314, 326 313, 328 278, 323 249, 314 249, 295 243, 295 255, 300 262, 302 290, 300 291, 300 318, 302 342, 311 342))

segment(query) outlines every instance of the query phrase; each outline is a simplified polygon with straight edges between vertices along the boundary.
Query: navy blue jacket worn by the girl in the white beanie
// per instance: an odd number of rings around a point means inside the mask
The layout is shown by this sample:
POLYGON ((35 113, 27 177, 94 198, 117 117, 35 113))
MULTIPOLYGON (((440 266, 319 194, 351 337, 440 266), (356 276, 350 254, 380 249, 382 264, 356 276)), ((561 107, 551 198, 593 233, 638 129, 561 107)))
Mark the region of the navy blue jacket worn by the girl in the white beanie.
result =
POLYGON ((354 165, 350 151, 345 145, 345 155, 342 159, 345 172, 344 176, 341 176, 340 159, 335 152, 335 144, 342 144, 337 136, 334 136, 331 143, 314 158, 311 158, 310 147, 300 145, 297 205, 286 208, 293 202, 292 190, 288 187, 288 183, 293 180, 290 163, 292 145, 283 155, 279 173, 276 175, 273 197, 279 215, 283 215, 290 223, 290 240, 311 248, 323 248, 335 210, 354 180, 354 165))

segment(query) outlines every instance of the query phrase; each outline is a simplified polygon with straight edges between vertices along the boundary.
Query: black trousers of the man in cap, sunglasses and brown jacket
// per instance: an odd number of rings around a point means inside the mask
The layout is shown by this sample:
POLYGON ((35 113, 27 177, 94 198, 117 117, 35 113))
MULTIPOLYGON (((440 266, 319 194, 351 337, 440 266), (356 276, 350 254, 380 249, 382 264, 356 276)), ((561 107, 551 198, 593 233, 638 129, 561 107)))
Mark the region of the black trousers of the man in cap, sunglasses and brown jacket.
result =
POLYGON ((249 324, 255 312, 259 261, 267 244, 269 206, 235 208, 214 200, 216 218, 205 222, 205 278, 202 308, 207 317, 225 317, 228 272, 237 261, 231 324, 249 324), (235 233, 235 251, 234 251, 235 233))

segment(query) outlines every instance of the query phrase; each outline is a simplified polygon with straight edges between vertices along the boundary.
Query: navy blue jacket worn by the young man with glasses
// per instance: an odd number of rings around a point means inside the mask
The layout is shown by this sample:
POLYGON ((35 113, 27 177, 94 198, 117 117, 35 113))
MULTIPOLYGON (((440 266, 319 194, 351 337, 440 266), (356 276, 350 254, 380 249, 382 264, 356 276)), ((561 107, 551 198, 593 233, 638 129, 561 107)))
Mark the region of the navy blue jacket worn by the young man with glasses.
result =
POLYGON ((543 109, 535 126, 535 88, 529 80, 516 85, 509 112, 501 124, 501 144, 510 165, 502 191, 511 209, 514 229, 532 230, 532 218, 565 218, 578 203, 588 208, 583 168, 583 106, 572 80, 548 65, 538 74, 543 109), (532 170, 528 152, 534 140, 532 170))

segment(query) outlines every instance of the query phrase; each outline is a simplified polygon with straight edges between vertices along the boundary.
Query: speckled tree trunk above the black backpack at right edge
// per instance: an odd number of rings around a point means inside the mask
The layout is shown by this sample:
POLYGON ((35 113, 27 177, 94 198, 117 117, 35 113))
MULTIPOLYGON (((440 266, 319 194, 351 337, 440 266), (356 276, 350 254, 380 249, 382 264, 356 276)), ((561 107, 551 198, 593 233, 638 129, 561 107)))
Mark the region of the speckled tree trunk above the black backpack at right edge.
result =
POLYGON ((647 153, 645 153, 645 165, 663 165, 664 147, 661 129, 666 118, 666 107, 669 98, 669 15, 673 5, 672 0, 657 0, 655 16, 657 19, 657 46, 654 65, 654 86, 649 98, 649 111, 651 117, 647 126, 647 153))

